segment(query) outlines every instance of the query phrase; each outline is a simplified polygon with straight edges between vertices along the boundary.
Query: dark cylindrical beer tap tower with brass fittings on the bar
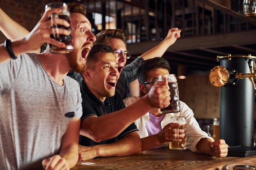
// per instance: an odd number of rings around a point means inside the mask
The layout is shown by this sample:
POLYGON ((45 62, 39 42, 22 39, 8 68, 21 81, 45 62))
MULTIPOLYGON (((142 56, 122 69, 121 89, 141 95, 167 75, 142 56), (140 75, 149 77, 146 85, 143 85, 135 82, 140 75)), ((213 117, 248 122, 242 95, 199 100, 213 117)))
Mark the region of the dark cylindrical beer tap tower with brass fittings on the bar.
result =
POLYGON ((229 146, 254 146, 255 56, 218 56, 220 66, 210 71, 220 87, 220 139, 229 146))

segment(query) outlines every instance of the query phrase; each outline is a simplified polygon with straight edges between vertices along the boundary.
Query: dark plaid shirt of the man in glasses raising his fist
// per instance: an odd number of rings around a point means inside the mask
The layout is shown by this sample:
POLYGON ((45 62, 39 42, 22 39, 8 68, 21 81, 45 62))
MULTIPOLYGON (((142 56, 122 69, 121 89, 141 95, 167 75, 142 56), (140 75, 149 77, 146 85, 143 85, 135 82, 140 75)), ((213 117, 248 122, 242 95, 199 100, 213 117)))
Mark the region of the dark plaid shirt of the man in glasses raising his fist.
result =
MULTIPOLYGON (((135 79, 137 79, 137 70, 139 67, 139 64, 144 61, 142 57, 137 57, 135 60, 133 60, 130 64, 127 64, 124 66, 124 69, 117 81, 116 86, 116 92, 119 93, 121 96, 121 99, 125 99, 126 97, 130 96, 130 82, 133 82, 135 79)), ((70 76, 71 78, 75 79, 79 85, 81 85, 83 81, 83 77, 80 73, 76 73, 72 70, 70 70, 67 73, 67 76, 70 76)))

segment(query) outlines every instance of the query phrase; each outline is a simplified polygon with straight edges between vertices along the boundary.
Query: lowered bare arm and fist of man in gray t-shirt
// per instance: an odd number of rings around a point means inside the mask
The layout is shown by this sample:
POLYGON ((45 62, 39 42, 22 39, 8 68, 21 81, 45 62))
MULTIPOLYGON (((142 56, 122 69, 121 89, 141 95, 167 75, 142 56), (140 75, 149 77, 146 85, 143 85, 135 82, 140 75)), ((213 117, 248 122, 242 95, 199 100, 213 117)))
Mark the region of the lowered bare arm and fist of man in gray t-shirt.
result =
POLYGON ((54 155, 43 160, 45 170, 58 170, 73 168, 78 161, 78 141, 79 141, 80 118, 75 117, 67 126, 67 130, 62 137, 59 155, 54 155))

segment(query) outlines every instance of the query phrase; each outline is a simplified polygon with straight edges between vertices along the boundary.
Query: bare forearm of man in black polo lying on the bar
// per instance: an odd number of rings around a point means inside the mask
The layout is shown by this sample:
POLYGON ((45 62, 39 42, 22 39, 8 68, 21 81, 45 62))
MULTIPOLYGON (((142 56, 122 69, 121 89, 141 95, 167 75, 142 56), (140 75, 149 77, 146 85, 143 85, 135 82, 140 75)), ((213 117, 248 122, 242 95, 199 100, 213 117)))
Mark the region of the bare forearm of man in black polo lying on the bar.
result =
POLYGON ((141 152, 141 139, 138 132, 131 132, 122 139, 105 145, 79 145, 79 161, 94 157, 115 157, 135 155, 141 152))

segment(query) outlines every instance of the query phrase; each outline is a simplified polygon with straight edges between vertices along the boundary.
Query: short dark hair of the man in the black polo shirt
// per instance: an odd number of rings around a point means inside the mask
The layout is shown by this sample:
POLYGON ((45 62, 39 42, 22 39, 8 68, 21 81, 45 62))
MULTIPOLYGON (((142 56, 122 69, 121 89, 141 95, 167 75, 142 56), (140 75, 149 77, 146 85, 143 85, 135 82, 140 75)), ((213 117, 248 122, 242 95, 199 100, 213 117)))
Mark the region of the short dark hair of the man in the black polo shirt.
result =
POLYGON ((92 49, 90 50, 87 58, 86 58, 86 68, 91 68, 92 70, 94 70, 94 63, 96 63, 98 61, 98 54, 99 53, 113 53, 114 54, 114 50, 112 49, 111 46, 107 45, 107 44, 95 44, 92 49))

